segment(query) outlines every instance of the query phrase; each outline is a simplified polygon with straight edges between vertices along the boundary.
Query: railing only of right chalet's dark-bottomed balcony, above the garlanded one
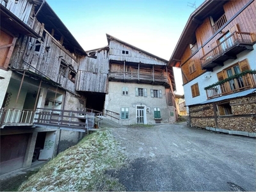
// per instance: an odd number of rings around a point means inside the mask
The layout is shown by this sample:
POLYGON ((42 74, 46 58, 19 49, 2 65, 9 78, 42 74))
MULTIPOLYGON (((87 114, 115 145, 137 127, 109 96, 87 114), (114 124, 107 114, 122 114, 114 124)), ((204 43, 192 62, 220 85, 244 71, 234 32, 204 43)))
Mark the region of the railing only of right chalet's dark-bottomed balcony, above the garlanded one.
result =
POLYGON ((214 58, 223 54, 223 52, 226 52, 237 44, 252 44, 252 37, 250 33, 236 31, 225 38, 223 42, 213 47, 211 51, 207 52, 202 58, 200 58, 202 61, 202 68, 204 68, 208 63, 211 63, 214 58))

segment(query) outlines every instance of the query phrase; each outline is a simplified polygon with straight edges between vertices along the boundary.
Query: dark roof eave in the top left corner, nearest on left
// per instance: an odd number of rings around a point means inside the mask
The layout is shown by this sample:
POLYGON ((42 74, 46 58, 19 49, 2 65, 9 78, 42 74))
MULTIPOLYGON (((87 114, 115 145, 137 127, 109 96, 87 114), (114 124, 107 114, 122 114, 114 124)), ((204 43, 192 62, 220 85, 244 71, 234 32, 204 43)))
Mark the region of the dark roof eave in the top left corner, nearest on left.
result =
POLYGON ((1 28, 5 28, 13 34, 21 33, 24 35, 38 38, 39 35, 16 15, 6 9, 3 4, 0 4, 0 24, 1 28))

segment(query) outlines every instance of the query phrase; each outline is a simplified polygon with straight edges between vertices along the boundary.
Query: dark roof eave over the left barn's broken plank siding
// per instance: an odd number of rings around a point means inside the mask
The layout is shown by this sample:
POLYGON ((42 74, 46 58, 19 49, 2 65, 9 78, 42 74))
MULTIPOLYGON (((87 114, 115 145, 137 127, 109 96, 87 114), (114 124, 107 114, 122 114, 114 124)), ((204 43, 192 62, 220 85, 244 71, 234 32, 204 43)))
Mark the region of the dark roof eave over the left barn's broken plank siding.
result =
POLYGON ((39 22, 45 24, 44 27, 47 31, 51 33, 52 29, 54 29, 54 38, 60 40, 61 36, 64 37, 63 47, 65 47, 65 49, 77 54, 86 54, 83 47, 81 47, 77 42, 76 38, 74 38, 70 33, 65 24, 63 24, 58 15, 56 15, 51 6, 49 6, 47 1, 42 1, 42 8, 38 8, 38 12, 36 14, 36 18, 39 22))

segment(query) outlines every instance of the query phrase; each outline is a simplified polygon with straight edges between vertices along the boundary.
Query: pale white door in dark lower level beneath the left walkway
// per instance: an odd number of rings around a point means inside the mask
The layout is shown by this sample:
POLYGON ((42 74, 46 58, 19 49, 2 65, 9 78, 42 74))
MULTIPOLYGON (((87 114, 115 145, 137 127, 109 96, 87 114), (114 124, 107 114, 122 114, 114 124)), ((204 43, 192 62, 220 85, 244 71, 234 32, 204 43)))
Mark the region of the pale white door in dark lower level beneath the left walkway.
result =
POLYGON ((48 160, 52 158, 56 140, 56 131, 47 132, 44 141, 44 149, 40 150, 38 160, 48 160))

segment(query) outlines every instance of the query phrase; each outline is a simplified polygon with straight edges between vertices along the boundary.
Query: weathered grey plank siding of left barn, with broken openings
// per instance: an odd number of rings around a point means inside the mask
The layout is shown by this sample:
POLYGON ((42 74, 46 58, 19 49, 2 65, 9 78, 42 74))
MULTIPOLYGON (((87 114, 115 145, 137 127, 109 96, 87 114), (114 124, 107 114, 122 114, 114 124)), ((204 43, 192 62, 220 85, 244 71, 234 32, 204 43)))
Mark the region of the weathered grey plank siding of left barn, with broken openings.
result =
POLYGON ((67 70, 72 69, 77 72, 78 61, 76 56, 62 47, 60 42, 44 29, 44 24, 36 20, 33 29, 41 37, 36 39, 29 36, 20 36, 15 45, 10 66, 47 76, 52 81, 61 84, 66 90, 75 92, 74 82, 70 81, 67 75, 61 76, 60 63, 61 60, 65 61, 67 70))

